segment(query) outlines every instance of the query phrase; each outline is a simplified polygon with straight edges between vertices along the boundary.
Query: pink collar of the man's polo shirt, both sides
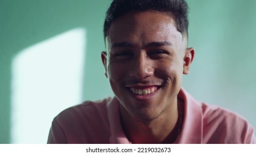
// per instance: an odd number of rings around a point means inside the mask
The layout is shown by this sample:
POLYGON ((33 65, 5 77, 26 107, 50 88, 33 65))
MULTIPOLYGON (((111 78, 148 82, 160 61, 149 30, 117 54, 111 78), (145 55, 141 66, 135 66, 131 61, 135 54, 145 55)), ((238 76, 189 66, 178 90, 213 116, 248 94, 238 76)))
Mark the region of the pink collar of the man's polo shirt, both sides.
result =
MULTIPOLYGON (((188 92, 181 89, 178 97, 184 101, 185 112, 182 130, 174 143, 202 143, 202 120, 201 106, 188 92)), ((122 130, 119 101, 113 97, 107 103, 107 117, 110 125, 110 143, 131 143, 122 130)))

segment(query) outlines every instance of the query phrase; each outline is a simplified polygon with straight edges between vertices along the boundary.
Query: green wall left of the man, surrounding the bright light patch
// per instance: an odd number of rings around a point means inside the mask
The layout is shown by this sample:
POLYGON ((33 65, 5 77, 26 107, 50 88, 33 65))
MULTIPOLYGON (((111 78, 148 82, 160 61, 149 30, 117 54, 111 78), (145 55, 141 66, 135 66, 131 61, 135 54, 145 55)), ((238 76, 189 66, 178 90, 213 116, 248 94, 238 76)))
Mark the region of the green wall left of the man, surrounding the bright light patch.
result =
MULTIPOLYGON (((109 3, 100 0, 0 0, 0 143, 11 142, 12 60, 19 51, 70 29, 85 28, 88 38, 85 50, 90 52, 86 53, 88 58, 84 64, 86 76, 83 85, 88 88, 94 87, 94 82, 100 85, 106 83, 98 58, 100 51, 104 50, 102 25, 109 3), (99 68, 98 72, 95 68, 99 68), (86 82, 89 80, 91 82, 86 82)), ((98 95, 107 96, 105 94, 108 93, 101 90, 98 95)), ((85 99, 98 97, 88 89, 83 94, 85 99)))

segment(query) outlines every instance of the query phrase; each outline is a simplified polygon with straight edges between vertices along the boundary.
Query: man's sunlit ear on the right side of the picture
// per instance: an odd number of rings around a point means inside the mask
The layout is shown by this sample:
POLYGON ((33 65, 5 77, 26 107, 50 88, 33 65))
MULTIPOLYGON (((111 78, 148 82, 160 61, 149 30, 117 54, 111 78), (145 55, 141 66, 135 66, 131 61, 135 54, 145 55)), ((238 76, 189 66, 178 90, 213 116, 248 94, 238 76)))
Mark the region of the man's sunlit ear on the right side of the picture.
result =
POLYGON ((190 65, 194 59, 194 49, 187 48, 185 51, 185 56, 183 58, 183 74, 190 73, 190 65))

